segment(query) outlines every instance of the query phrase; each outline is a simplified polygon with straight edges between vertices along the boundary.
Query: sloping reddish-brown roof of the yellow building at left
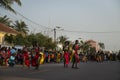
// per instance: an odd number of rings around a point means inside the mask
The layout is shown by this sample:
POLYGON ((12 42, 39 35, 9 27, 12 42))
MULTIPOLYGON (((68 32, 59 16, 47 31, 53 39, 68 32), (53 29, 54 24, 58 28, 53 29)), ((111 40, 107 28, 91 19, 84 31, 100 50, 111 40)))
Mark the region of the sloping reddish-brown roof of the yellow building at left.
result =
POLYGON ((0 32, 5 32, 5 33, 11 33, 11 34, 17 34, 18 32, 7 25, 0 23, 0 32))

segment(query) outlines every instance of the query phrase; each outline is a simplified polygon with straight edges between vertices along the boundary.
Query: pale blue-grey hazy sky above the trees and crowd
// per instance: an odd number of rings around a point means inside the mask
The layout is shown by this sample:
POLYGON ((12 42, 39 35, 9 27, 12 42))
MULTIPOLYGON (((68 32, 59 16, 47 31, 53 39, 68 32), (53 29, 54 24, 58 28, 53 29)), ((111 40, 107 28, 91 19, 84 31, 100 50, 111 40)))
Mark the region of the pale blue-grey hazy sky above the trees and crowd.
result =
POLYGON ((107 50, 120 49, 120 0, 21 0, 14 9, 36 24, 7 11, 13 19, 25 20, 31 32, 53 37, 65 35, 69 40, 93 39, 103 42, 107 50), (14 16, 14 17, 13 17, 14 16), (49 29, 50 28, 50 29, 49 29))

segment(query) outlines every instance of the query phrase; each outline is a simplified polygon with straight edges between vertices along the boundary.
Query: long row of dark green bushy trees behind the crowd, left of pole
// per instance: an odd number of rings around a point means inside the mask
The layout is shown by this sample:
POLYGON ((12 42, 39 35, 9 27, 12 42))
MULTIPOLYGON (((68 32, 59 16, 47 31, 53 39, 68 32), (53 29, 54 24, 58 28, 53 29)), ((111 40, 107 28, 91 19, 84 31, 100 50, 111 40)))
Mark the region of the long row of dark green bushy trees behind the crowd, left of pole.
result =
POLYGON ((53 42, 52 38, 44 36, 41 33, 32 33, 26 37, 23 37, 21 34, 17 34, 16 36, 6 35, 5 41, 9 44, 13 43, 14 45, 45 47, 47 50, 55 49, 56 47, 56 43, 53 42))

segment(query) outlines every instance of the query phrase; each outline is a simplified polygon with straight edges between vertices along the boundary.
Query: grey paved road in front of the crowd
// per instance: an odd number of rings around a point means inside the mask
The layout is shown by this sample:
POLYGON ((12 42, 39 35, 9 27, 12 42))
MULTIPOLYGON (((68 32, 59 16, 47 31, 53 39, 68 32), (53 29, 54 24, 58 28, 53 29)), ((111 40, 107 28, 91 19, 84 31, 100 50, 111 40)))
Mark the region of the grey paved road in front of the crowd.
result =
POLYGON ((39 70, 22 66, 0 67, 0 80, 120 80, 120 62, 80 63, 80 69, 72 69, 71 64, 40 65, 39 70))

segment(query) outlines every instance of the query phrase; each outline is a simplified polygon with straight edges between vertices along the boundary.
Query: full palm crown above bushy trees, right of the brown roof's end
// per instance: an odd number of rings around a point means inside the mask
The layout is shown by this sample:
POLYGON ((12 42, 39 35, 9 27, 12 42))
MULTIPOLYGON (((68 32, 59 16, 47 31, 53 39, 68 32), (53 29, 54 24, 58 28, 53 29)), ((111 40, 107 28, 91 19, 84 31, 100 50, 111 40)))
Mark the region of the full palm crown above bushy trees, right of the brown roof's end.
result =
POLYGON ((15 21, 14 29, 18 31, 23 36, 26 36, 28 33, 28 27, 24 21, 15 21))

